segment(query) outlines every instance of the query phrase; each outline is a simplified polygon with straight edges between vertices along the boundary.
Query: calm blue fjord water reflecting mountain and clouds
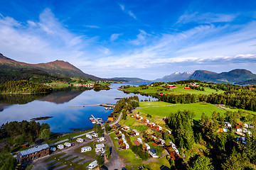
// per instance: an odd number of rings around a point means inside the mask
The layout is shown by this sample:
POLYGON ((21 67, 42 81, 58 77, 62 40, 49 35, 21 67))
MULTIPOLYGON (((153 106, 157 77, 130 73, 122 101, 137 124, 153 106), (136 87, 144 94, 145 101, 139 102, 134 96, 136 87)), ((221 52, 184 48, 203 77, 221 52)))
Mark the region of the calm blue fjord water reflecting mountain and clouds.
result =
MULTIPOLYGON (((93 128, 93 124, 88 119, 90 115, 94 115, 95 118, 102 118, 105 121, 112 111, 105 111, 101 106, 70 106, 95 105, 100 103, 114 104, 117 102, 114 98, 134 96, 134 94, 124 94, 124 92, 119 91, 119 86, 138 86, 139 84, 146 83, 112 84, 109 91, 58 91, 46 96, 40 96, 38 99, 25 104, 22 101, 13 101, 11 104, 0 101, 0 106, 2 106, 0 110, 0 125, 7 121, 31 120, 32 118, 53 116, 53 118, 49 118, 48 120, 37 121, 39 123, 48 123, 52 132, 87 130, 93 128)), ((151 98, 149 96, 136 95, 139 96, 139 100, 151 98)), ((151 98, 151 100, 156 100, 156 98, 151 98)))

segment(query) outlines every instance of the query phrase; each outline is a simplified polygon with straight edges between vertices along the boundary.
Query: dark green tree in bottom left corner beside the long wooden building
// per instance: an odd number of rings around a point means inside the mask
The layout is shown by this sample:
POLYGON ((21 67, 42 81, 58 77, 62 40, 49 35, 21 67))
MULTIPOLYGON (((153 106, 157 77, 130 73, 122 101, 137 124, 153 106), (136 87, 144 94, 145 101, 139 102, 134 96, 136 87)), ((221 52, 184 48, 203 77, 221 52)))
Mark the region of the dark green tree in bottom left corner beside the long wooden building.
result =
POLYGON ((0 153, 0 170, 12 170, 15 165, 16 159, 11 154, 0 153))

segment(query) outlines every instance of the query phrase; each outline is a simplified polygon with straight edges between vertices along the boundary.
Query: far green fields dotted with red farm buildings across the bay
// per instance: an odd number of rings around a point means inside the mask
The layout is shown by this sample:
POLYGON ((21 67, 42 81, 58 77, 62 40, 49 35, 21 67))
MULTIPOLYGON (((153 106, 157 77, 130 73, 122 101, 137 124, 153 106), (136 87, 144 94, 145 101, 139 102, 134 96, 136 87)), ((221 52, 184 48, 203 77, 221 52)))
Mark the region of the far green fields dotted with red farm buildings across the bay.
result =
POLYGON ((193 89, 184 89, 185 85, 181 84, 176 84, 176 89, 165 89, 162 86, 155 86, 151 87, 149 86, 149 89, 142 89, 142 87, 139 86, 131 86, 127 89, 123 89, 124 91, 132 91, 132 92, 139 92, 139 93, 144 93, 144 94, 222 94, 224 91, 219 90, 215 91, 214 89, 210 89, 209 87, 205 87, 205 91, 198 91, 198 90, 193 90, 193 89))

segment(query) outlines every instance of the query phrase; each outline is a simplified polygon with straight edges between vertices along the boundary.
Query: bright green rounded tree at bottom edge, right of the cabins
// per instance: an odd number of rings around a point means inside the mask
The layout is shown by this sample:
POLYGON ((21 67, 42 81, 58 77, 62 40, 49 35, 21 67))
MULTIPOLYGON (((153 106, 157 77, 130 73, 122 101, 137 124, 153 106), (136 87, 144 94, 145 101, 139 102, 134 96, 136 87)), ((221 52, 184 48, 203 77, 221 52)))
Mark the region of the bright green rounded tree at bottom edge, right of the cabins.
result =
POLYGON ((196 161, 193 162, 191 170, 211 170, 213 169, 213 165, 210 162, 210 158, 199 156, 196 161))

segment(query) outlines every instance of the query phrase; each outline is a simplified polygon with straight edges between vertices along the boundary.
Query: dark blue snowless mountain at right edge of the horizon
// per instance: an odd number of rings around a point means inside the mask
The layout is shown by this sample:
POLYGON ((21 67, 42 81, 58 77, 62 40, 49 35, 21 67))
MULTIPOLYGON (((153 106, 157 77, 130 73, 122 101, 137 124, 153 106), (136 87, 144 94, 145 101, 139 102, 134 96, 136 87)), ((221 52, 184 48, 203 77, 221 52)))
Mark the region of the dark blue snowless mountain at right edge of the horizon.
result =
POLYGON ((233 69, 230 72, 222 72, 220 74, 206 70, 196 70, 196 72, 194 72, 188 79, 233 84, 239 81, 256 79, 256 74, 252 74, 252 72, 247 69, 233 69))

